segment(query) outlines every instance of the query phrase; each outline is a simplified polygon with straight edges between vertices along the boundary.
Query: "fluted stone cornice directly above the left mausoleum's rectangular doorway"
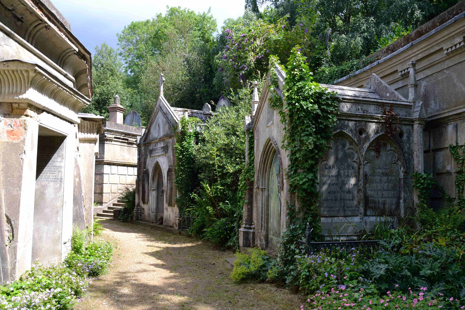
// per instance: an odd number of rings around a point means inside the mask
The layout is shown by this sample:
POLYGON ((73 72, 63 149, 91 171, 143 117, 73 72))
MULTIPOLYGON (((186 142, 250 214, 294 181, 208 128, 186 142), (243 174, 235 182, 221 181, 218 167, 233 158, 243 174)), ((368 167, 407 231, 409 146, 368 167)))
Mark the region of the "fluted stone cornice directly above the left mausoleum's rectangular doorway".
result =
POLYGON ((73 124, 80 122, 77 113, 90 104, 88 98, 53 79, 44 68, 20 60, 0 63, 0 101, 27 102, 73 124))

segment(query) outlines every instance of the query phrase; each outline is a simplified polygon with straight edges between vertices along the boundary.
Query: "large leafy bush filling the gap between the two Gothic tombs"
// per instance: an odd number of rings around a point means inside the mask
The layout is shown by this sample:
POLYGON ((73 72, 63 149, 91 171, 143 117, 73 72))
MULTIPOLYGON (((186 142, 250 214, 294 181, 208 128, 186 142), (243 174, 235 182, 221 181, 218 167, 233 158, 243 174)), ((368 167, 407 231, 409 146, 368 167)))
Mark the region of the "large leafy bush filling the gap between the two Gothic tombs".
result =
POLYGON ((244 168, 244 117, 250 114, 250 99, 250 89, 239 91, 232 98, 235 105, 222 108, 202 129, 194 154, 200 186, 189 188, 190 192, 195 189, 189 208, 195 218, 190 232, 233 249, 239 243, 246 179, 253 178, 253 139, 252 164, 244 168))

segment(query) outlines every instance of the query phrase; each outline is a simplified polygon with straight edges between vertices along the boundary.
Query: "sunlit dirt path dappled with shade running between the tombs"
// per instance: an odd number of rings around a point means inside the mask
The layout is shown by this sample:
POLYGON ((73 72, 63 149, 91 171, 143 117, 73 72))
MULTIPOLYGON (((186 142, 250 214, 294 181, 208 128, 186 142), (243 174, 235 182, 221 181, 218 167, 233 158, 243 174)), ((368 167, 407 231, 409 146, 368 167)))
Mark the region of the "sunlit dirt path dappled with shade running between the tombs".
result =
MULTIPOLYGON (((75 306, 88 309, 300 309, 298 296, 271 284, 234 284, 220 251, 193 238, 113 220, 101 238, 116 244, 113 266, 75 306)), ((100 237, 100 236, 99 236, 100 237)))

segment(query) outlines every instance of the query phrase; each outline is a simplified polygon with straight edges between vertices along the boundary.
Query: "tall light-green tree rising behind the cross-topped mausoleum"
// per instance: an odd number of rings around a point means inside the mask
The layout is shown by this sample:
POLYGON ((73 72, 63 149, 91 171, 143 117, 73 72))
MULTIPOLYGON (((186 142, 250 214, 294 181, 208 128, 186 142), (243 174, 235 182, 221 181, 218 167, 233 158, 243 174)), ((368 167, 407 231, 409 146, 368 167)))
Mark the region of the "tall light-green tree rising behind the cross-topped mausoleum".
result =
POLYGON ((118 34, 120 55, 131 73, 127 83, 140 94, 141 117, 150 118, 158 97, 159 74, 164 73, 164 95, 172 106, 199 109, 216 100, 211 87, 216 53, 216 21, 210 11, 195 13, 168 7, 150 20, 133 21, 118 34))

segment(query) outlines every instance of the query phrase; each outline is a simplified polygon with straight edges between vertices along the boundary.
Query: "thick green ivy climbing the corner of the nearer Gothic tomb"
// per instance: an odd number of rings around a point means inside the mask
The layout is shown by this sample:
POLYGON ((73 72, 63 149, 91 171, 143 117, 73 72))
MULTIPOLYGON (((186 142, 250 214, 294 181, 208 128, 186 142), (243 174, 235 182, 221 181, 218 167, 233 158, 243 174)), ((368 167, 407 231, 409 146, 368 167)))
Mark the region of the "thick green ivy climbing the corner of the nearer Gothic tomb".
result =
MULTIPOLYGON (((279 65, 277 58, 272 57, 271 61, 272 67, 279 65)), ((278 251, 283 267, 289 273, 296 252, 301 251, 297 239, 303 237, 306 223, 316 228, 314 231, 319 230, 318 164, 332 138, 339 104, 335 92, 328 92, 326 87, 312 81, 306 58, 297 47, 292 49, 285 73, 282 94, 274 70, 269 91, 270 105, 279 112, 284 125, 282 146, 288 151, 289 158, 286 173, 298 205, 298 209, 288 205, 290 224, 281 235, 278 251)))

